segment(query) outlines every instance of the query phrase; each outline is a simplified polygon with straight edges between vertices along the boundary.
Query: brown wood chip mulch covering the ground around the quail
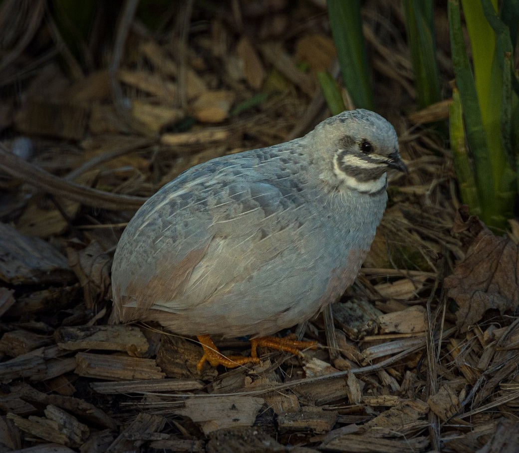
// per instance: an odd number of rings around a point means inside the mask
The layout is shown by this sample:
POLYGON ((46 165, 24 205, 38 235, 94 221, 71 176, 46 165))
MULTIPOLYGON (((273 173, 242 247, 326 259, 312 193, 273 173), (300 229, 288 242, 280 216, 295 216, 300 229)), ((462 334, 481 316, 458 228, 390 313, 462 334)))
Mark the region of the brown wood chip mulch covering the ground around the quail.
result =
MULTIPOLYGON (((129 16, 110 50, 119 59, 85 73, 46 3, 30 3, 0 5, 18 34, 0 64, 0 453, 517 451, 519 224, 497 237, 460 208, 450 152, 419 124, 444 119, 448 101, 416 112, 397 2, 366 2, 363 18, 410 173, 391 175, 356 284, 295 330, 316 350, 264 349, 259 365, 201 375, 193 339, 107 324, 113 252, 183 170, 328 115, 315 75, 336 71, 322 2, 217 14, 185 2, 157 34, 129 16)), ((249 352, 240 339, 217 346, 249 352)))

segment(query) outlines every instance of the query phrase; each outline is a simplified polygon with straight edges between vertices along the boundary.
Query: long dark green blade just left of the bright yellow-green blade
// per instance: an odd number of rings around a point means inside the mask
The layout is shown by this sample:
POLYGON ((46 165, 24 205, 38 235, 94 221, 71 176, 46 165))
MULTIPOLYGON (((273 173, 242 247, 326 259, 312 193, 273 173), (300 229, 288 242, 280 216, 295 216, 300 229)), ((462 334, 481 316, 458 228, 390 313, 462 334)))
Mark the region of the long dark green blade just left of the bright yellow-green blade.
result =
POLYGON ((487 154, 487 140, 476 85, 461 29, 459 1, 448 0, 447 12, 454 74, 460 93, 461 105, 463 106, 467 139, 474 159, 475 182, 481 203, 482 217, 484 222, 490 224, 490 218, 494 216, 495 209, 494 180, 491 162, 487 154))

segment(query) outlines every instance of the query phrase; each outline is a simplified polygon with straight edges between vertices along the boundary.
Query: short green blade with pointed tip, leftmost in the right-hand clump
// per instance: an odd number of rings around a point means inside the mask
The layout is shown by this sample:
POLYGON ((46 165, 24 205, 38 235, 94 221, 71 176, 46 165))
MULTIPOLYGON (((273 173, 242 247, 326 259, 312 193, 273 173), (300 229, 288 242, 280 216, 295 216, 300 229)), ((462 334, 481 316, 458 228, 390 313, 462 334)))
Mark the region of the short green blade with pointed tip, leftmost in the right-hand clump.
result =
POLYGON ((449 134, 461 200, 469 205, 472 214, 481 215, 481 204, 465 140, 461 99, 456 87, 453 88, 453 102, 449 105, 449 134))

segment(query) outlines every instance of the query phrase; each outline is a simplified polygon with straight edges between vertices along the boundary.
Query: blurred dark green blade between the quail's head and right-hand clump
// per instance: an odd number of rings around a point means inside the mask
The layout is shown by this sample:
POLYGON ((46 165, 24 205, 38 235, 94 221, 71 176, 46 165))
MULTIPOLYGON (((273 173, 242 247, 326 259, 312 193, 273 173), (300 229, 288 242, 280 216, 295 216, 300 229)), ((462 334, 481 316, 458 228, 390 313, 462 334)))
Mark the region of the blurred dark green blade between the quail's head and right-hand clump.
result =
POLYGON ((420 108, 440 101, 440 76, 436 63, 434 10, 432 0, 403 0, 407 42, 415 74, 420 108))

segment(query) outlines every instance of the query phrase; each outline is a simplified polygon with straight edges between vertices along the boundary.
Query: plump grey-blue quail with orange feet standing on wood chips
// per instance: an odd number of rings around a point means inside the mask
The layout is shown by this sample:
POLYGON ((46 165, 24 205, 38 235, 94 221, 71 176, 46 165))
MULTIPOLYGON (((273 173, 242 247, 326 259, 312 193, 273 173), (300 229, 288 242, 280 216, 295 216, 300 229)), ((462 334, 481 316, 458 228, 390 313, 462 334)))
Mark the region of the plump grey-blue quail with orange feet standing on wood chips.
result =
POLYGON ((336 301, 360 270, 387 203, 387 171, 407 172, 397 134, 357 109, 302 138, 201 163, 163 186, 124 230, 112 266, 112 322, 154 321, 197 336, 198 364, 257 363, 271 337, 336 301), (252 338, 224 357, 211 337, 252 338))

